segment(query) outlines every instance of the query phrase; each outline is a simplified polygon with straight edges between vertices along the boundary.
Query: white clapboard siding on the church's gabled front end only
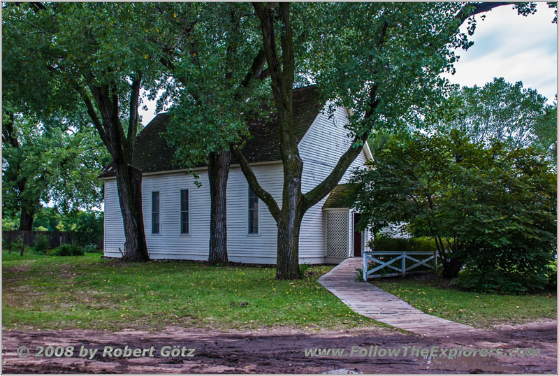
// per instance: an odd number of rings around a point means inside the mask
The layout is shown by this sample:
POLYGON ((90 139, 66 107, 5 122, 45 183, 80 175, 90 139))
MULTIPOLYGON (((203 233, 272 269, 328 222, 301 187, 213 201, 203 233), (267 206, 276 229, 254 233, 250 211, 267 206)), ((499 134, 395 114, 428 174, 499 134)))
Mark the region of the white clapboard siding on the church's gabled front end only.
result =
MULTIPOLYGON (((299 153, 303 159, 303 192, 310 191, 324 180, 351 145, 351 138, 347 137, 348 131, 344 128, 347 122, 347 112, 344 108, 337 108, 331 116, 321 113, 301 140, 299 153)), ((361 152, 347 169, 340 183, 347 182, 351 171, 363 164, 365 154, 361 152)), ((307 210, 303 217, 299 238, 300 262, 313 262, 317 257, 324 260, 326 245, 322 206, 326 198, 328 196, 307 210)))

